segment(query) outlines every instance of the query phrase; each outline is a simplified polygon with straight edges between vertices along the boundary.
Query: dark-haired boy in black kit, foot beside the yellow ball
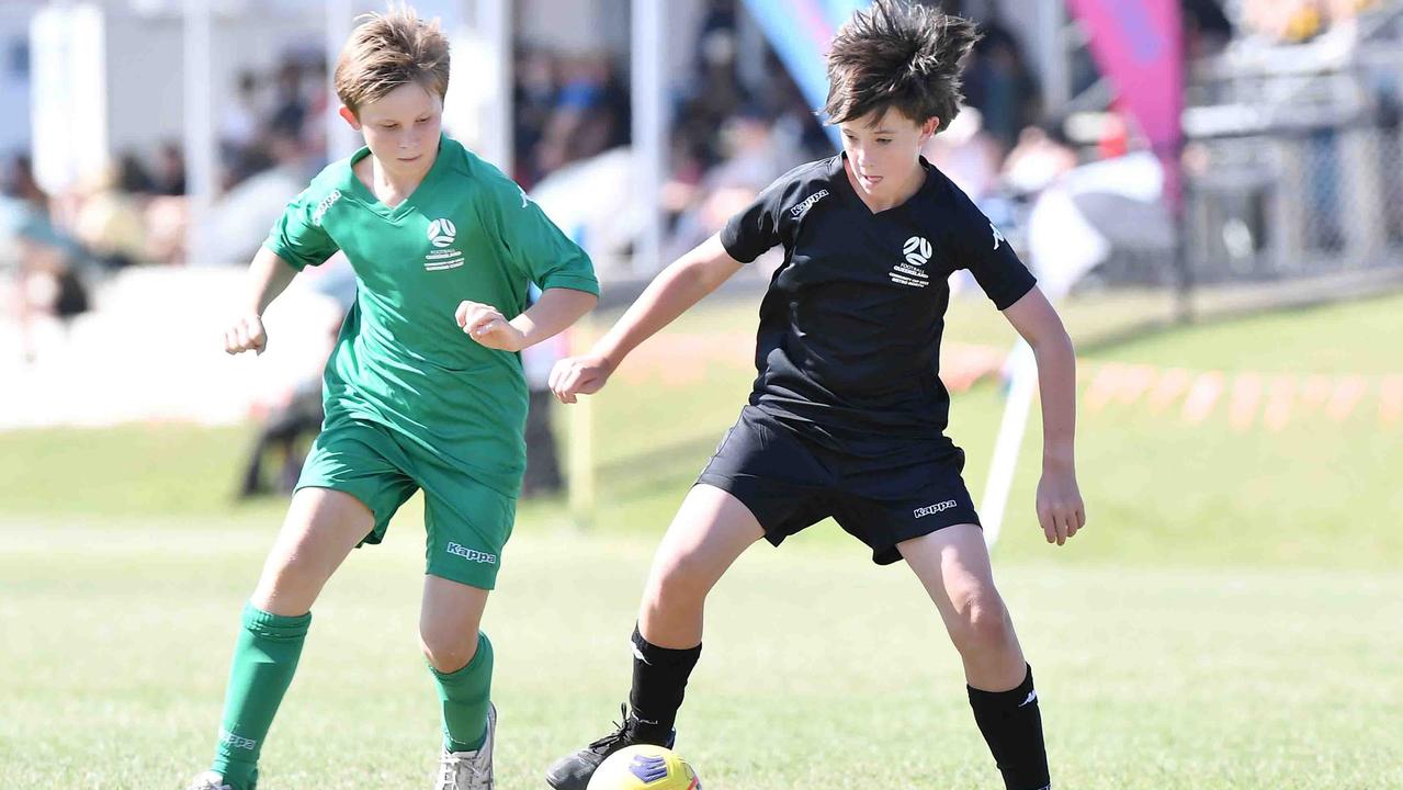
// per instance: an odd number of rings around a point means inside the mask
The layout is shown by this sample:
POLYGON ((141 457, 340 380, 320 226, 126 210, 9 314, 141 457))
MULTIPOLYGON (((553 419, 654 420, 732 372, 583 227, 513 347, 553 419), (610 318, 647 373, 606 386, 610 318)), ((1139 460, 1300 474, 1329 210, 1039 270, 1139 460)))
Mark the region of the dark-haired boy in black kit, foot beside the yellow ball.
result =
POLYGON ((654 558, 633 633, 631 713, 547 770, 584 790, 610 754, 671 745, 702 652, 707 592, 760 537, 832 516, 878 564, 905 560, 964 660, 969 704, 1006 787, 1051 786, 1033 671, 993 585, 964 453, 944 436, 937 377, 947 278, 969 269, 1033 347, 1042 393, 1037 515, 1049 543, 1086 523, 1073 467, 1072 342, 1007 241, 919 152, 958 112, 962 18, 877 0, 828 56, 825 112, 843 153, 766 188, 668 267, 592 352, 560 362, 564 403, 598 391, 640 342, 745 262, 783 246, 760 304, 749 404, 687 494, 654 558))

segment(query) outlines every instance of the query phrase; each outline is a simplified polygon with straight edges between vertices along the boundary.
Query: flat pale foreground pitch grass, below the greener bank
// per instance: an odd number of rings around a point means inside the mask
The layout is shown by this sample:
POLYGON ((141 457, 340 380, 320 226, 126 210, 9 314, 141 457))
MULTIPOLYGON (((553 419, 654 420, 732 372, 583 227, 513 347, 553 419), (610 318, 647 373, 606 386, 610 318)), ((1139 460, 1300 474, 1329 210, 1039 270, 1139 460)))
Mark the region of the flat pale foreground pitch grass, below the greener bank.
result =
MULTIPOLYGON (((407 526, 407 525, 400 525, 407 526)), ((0 786, 175 787, 208 758, 274 526, 6 526, 0 786)), ((504 790, 540 787, 626 693, 650 543, 537 525, 487 629, 504 790)), ((411 529, 316 608, 267 787, 422 787, 436 747, 411 529)), ((1403 787, 1397 574, 1000 565, 1063 787, 1403 787)), ((753 551, 709 606, 679 751, 709 787, 993 787, 958 661, 911 574, 753 551)))

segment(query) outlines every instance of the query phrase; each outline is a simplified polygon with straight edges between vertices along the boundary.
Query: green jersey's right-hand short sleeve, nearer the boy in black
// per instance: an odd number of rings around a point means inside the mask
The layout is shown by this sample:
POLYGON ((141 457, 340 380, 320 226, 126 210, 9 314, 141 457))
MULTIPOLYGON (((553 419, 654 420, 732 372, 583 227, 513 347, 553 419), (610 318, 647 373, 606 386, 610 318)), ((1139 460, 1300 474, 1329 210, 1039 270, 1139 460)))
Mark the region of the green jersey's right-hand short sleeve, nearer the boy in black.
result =
POLYGON ((589 255, 565 236, 526 192, 505 175, 487 191, 488 227, 495 227, 511 262, 537 288, 599 295, 589 255))

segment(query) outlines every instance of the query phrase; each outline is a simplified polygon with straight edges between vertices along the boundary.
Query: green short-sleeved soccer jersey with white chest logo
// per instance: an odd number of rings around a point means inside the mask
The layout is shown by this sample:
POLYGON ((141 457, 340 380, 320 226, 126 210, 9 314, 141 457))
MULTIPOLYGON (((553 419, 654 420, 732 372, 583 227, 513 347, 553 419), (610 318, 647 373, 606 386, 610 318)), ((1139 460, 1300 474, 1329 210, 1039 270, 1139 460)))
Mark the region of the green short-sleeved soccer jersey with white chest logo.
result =
POLYGON ((418 189, 394 208, 351 170, 369 154, 327 166, 265 241, 297 269, 337 250, 355 269, 355 306, 325 368, 325 425, 382 424, 516 495, 526 464, 521 358, 474 342, 455 310, 466 299, 513 319, 530 282, 599 293, 589 257, 515 182, 448 136, 418 189))

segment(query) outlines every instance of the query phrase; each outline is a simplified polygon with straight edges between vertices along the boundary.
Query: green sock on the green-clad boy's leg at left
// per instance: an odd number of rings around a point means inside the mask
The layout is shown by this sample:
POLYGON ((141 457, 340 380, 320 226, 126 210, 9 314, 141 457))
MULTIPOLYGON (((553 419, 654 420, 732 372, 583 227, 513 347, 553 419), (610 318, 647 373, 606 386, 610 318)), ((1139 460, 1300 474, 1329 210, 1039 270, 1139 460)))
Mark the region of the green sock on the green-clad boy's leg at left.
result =
POLYGON ((311 613, 285 617, 246 603, 243 620, 210 770, 234 790, 253 790, 258 782, 258 752, 297 671, 311 613))

